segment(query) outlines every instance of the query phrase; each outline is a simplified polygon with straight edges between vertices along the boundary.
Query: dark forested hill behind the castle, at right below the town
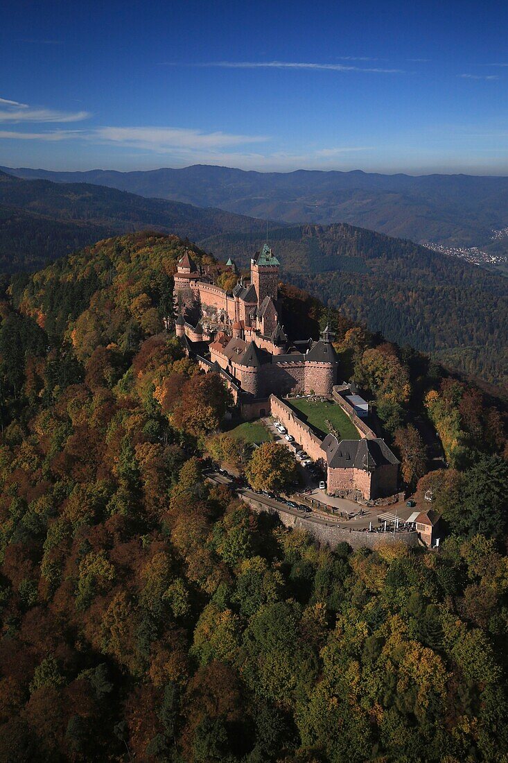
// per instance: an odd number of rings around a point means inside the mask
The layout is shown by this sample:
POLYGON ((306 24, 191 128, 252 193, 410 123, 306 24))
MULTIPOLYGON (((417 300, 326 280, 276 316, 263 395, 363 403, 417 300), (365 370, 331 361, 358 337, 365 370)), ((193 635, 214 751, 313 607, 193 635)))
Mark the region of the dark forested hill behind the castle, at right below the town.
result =
MULTIPOLYGON (((452 367, 508 388, 508 281, 411 241, 350 225, 271 230, 284 278, 352 320, 452 367)), ((261 236, 201 241, 220 258, 259 248, 261 236)))

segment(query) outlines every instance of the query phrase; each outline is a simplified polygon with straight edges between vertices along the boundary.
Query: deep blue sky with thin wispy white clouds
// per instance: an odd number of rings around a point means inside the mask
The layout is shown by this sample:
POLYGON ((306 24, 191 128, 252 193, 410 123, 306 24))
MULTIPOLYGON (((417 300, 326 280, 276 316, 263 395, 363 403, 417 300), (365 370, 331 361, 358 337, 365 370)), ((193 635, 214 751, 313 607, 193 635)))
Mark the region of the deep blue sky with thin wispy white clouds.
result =
POLYGON ((500 2, 24 2, 0 164, 508 174, 500 2))

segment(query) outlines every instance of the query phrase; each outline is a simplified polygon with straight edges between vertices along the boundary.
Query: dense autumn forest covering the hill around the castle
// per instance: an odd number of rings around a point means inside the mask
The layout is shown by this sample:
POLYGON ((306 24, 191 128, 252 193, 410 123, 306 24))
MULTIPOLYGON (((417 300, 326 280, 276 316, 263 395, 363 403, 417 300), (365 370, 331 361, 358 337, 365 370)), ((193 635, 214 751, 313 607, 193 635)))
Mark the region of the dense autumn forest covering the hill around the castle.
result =
POLYGON ((222 449, 254 481, 256 456, 162 330, 185 246, 130 234, 2 282, 0 761, 508 759, 502 407, 285 285, 448 526, 439 554, 317 548, 203 477, 222 449), (449 468, 426 473, 423 420, 449 468))

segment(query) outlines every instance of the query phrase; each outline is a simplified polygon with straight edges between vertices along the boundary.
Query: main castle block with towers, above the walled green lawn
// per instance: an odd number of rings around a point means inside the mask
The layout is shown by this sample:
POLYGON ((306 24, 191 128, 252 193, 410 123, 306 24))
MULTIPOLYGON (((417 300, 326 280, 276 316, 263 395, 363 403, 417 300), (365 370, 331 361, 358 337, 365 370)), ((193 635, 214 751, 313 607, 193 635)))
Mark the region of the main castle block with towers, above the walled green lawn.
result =
POLYGON ((198 266, 187 252, 175 273, 177 336, 202 367, 223 375, 246 414, 272 393, 328 397, 336 384, 330 330, 317 342, 291 340, 280 324, 279 266, 265 244, 251 259, 250 278, 238 278, 231 291, 216 282, 217 274, 236 274, 231 259, 225 266, 198 266), (191 315, 198 319, 194 326, 191 315))

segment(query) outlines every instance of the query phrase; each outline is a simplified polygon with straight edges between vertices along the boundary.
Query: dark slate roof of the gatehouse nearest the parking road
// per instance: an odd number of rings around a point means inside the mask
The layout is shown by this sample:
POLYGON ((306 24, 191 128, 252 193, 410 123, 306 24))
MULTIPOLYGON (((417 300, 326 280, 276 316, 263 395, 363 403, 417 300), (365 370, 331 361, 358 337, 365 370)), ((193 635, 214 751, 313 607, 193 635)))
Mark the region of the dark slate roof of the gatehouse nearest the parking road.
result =
POLYGON ((384 439, 342 439, 327 434, 321 449, 326 452, 330 468, 375 469, 387 464, 398 464, 399 460, 384 442, 384 439))

